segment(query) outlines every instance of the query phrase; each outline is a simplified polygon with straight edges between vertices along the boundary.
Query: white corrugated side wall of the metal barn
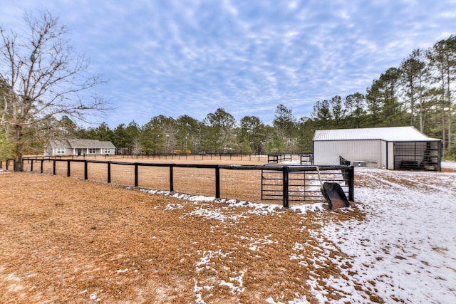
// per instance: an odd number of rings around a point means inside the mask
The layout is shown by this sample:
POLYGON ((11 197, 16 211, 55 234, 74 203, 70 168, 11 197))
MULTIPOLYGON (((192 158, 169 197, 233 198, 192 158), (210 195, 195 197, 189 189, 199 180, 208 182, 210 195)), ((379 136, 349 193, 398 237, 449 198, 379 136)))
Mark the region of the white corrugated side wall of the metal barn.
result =
POLYGON ((314 163, 339 164, 339 156, 350 161, 366 162, 367 167, 386 164, 385 142, 381 140, 314 141, 314 163))

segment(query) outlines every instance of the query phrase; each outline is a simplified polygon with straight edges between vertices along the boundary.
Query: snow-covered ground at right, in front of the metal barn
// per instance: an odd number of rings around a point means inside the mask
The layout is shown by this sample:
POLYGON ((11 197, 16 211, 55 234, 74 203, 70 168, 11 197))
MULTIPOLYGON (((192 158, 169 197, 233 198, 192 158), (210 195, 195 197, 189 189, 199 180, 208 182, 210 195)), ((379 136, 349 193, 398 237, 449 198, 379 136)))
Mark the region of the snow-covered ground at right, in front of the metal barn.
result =
MULTIPOLYGON (((442 167, 456 169, 456 164, 442 167)), ((353 281, 375 288, 385 300, 456 303, 456 174, 356 168, 356 177, 376 181, 356 187, 366 220, 323 229, 349 256, 353 267, 341 270, 347 276, 358 271, 353 281)), ((351 303, 364 292, 350 281, 331 284, 350 290, 345 300, 351 303)))

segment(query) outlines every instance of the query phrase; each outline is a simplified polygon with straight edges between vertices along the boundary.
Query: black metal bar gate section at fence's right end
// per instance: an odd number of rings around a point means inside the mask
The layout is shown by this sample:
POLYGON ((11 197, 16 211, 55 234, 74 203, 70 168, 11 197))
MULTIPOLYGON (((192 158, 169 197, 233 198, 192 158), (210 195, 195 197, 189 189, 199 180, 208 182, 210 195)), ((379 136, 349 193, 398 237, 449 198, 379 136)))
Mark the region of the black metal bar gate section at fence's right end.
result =
POLYGON ((318 166, 320 177, 316 166, 284 166, 282 170, 277 170, 276 166, 269 168, 265 165, 261 170, 261 200, 284 201, 284 205, 289 201, 324 202, 326 199, 321 194, 324 182, 341 184, 348 199, 354 200, 352 166, 318 166))

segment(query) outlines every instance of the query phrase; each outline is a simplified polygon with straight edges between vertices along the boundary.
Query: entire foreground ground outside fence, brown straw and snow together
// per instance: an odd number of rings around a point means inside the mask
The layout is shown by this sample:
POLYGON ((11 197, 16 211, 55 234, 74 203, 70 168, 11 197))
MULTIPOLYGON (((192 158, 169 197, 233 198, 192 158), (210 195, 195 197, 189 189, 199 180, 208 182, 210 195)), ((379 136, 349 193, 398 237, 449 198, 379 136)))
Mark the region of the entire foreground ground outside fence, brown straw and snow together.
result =
POLYGON ((336 212, 0 174, 0 303, 451 303, 455 174, 359 169, 336 212))

